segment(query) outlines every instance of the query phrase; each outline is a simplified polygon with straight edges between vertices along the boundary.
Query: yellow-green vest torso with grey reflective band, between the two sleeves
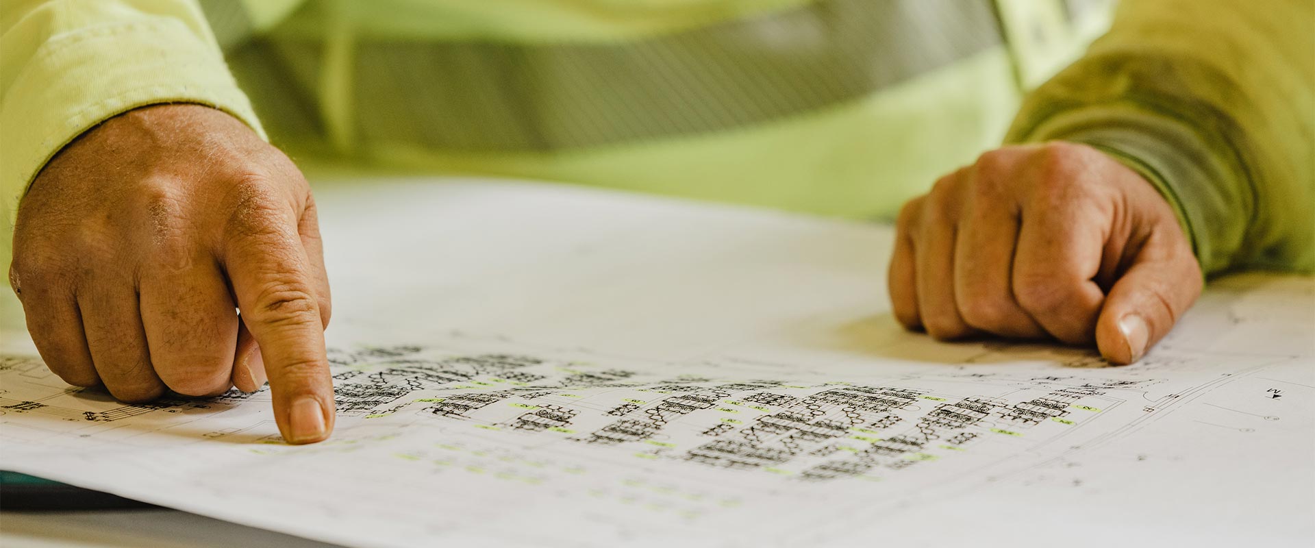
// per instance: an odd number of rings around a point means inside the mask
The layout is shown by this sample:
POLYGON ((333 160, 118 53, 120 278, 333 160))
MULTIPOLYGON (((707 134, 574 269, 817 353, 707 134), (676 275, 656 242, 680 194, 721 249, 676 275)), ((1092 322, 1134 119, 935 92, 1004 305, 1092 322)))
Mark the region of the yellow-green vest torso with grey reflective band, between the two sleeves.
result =
POLYGON ((271 138, 302 159, 846 217, 890 217, 997 145, 1020 91, 1107 14, 1057 0, 308 1, 264 21, 203 7, 271 138))

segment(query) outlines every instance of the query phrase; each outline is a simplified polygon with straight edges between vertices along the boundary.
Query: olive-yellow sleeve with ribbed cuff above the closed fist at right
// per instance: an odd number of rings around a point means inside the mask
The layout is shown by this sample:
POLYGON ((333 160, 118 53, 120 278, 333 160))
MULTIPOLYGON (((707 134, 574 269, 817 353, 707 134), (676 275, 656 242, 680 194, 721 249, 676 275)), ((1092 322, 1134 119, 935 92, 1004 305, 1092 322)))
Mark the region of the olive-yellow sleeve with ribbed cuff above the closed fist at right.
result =
POLYGON ((1010 142, 1074 141, 1174 206, 1202 269, 1315 269, 1315 4, 1124 3, 1010 142))

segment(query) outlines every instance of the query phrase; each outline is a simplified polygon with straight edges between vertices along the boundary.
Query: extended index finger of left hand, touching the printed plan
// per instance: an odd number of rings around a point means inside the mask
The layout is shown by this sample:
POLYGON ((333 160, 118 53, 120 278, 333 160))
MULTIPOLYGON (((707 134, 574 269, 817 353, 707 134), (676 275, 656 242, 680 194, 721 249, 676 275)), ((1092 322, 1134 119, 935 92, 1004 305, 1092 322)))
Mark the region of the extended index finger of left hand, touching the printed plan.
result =
POLYGON ((225 267, 242 321, 260 347, 274 414, 288 443, 314 443, 333 431, 333 378, 312 262, 297 233, 295 206, 245 200, 226 243, 225 267))

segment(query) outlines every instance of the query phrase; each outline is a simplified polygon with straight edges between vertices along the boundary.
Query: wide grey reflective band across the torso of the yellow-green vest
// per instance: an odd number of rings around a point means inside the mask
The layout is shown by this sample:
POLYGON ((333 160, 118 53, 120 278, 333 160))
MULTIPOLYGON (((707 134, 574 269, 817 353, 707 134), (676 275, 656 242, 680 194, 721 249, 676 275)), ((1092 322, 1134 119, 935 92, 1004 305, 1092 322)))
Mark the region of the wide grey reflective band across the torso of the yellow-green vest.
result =
POLYGON ((358 43, 355 142, 559 150, 863 97, 1001 43, 990 0, 825 0, 625 43, 358 43))

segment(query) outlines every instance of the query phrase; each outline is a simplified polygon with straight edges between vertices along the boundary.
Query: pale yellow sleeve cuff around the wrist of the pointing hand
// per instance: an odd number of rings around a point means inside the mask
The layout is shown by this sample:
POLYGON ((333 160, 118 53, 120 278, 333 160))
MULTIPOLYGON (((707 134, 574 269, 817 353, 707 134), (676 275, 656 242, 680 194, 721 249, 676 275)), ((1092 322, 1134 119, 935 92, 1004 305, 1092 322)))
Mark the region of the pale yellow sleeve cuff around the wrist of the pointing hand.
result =
POLYGON ((0 191, 9 221, 64 145, 108 118, 162 103, 221 109, 267 138, 218 49, 181 21, 93 26, 45 42, 0 104, 0 191))

